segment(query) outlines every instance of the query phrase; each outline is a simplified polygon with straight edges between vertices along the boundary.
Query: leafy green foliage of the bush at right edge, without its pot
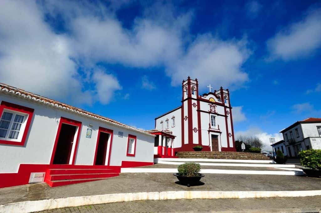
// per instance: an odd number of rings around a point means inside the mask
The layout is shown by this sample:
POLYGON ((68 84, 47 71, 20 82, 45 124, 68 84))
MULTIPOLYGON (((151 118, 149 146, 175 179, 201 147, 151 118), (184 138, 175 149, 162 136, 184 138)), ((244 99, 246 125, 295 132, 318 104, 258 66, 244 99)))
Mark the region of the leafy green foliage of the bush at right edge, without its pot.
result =
POLYGON ((299 152, 302 166, 311 169, 321 169, 321 149, 309 149, 299 152))

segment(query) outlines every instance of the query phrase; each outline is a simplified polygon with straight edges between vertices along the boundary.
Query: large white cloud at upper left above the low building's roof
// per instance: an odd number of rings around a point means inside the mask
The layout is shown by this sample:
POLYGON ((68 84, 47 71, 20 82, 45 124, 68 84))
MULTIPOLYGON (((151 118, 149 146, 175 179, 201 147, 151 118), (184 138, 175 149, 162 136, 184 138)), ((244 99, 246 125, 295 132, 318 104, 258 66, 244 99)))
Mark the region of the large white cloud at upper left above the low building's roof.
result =
POLYGON ((92 75, 92 79, 79 75, 79 66, 71 59, 70 38, 50 29, 36 3, 2 1, 1 5, 1 82, 80 104, 97 100, 107 104, 113 92, 120 89, 115 77, 101 71, 86 69, 85 75, 92 75), (84 90, 84 81, 93 83, 96 89, 84 90))

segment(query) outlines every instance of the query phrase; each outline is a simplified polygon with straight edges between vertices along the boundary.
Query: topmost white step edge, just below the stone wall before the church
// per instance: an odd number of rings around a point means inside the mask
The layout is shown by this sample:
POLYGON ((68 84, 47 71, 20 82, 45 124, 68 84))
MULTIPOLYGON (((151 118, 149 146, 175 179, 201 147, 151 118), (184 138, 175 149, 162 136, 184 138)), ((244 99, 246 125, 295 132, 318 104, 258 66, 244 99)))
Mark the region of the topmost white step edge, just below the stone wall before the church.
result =
POLYGON ((178 161, 178 162, 235 162, 235 163, 275 163, 272 160, 231 160, 231 159, 205 159, 205 158, 154 158, 158 161, 178 161))

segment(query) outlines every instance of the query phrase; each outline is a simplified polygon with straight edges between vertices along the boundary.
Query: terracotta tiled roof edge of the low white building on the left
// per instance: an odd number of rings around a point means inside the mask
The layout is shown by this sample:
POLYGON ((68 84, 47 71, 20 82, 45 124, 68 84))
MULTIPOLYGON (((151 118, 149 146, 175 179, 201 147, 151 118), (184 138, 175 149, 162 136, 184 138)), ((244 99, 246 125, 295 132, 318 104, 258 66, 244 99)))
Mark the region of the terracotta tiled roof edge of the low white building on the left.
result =
POLYGON ((120 123, 120 122, 115 121, 113 119, 110 119, 110 118, 107 118, 107 117, 103 117, 101 115, 94 114, 94 113, 88 112, 86 110, 83 110, 83 109, 80 109, 80 108, 77 108, 77 107, 74 107, 74 106, 71 106, 71 105, 68 105, 68 104, 53 100, 53 99, 49 99, 49 98, 43 97, 41 95, 34 94, 32 92, 24 91, 22 89, 18 89, 16 87, 9 86, 9 85, 4 84, 4 83, 0 83, 0 92, 5 92, 5 93, 8 93, 8 94, 20 96, 20 97, 23 97, 23 98, 26 98, 26 99, 30 99, 32 101, 36 101, 36 102, 39 102, 39 103, 42 103, 42 104, 47 104, 49 106, 57 107, 57 108, 60 108, 62 110, 68 110, 68 111, 71 111, 71 112, 74 112, 74 113, 78 113, 78 114, 81 114, 83 116, 87 116, 87 117, 90 117, 90 118, 93 118, 93 119, 96 119, 96 120, 105 121, 105 122, 108 122, 108 123, 113 124, 113 125, 125 127, 126 129, 130 129, 130 130, 134 130, 136 132, 140 132, 140 133, 143 133, 143 134, 151 135, 148 132, 145 132, 143 130, 139 130, 137 128, 128 126, 126 124, 120 123))

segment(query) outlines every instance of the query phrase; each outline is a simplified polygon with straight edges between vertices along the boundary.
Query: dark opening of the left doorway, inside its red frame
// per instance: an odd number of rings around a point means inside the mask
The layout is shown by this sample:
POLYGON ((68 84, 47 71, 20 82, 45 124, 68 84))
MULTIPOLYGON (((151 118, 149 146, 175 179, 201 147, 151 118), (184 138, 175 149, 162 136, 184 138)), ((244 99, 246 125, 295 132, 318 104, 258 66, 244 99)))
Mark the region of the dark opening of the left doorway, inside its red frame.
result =
POLYGON ((59 132, 54 164, 69 164, 76 126, 63 123, 59 132))

